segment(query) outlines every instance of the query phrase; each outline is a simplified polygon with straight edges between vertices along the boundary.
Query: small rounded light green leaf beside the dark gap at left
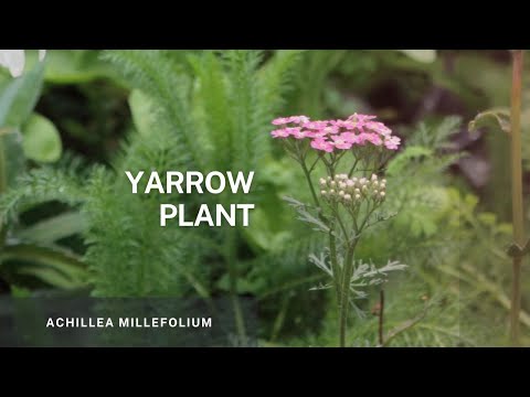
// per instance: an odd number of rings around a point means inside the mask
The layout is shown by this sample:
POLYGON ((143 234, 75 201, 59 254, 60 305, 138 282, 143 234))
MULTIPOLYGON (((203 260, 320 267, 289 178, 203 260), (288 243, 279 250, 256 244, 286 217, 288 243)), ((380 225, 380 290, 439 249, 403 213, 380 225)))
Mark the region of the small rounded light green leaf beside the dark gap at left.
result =
POLYGON ((33 114, 23 127, 22 148, 29 159, 40 162, 57 161, 63 150, 55 126, 38 114, 33 114))

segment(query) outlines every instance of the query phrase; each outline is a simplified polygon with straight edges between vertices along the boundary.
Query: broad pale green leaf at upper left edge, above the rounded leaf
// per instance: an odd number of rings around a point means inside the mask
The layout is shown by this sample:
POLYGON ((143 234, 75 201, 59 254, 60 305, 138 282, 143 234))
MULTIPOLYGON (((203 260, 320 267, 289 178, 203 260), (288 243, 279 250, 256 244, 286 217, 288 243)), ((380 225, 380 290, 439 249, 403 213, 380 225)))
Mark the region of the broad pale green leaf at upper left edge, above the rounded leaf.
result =
POLYGON ((0 93, 0 127, 20 127, 30 117, 42 88, 44 65, 12 79, 0 93))

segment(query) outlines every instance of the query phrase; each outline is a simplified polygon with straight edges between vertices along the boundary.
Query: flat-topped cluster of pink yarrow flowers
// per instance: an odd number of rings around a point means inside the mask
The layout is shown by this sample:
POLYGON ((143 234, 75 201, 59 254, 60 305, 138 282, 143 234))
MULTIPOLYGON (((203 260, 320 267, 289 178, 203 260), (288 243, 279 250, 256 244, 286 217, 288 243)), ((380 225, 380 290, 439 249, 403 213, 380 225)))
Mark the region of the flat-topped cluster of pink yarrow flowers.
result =
POLYGON ((311 121, 306 116, 280 117, 273 120, 280 128, 271 132, 273 138, 310 139, 311 148, 325 152, 349 150, 354 146, 371 143, 398 150, 401 139, 392 130, 375 121, 377 116, 354 114, 346 120, 311 121))

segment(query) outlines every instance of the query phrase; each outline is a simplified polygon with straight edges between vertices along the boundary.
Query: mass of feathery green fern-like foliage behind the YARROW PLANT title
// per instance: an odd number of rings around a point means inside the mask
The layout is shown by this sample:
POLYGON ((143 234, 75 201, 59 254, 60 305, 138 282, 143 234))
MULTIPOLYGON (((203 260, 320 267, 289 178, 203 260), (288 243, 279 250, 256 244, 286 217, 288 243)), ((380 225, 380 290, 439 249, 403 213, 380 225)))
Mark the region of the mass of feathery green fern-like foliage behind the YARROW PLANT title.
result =
MULTIPOLYGON (((2 195, 0 215, 13 218, 51 200, 78 207, 87 225, 84 260, 96 296, 206 297, 218 288, 224 253, 237 253, 245 235, 233 238, 230 227, 162 228, 159 205, 186 203, 192 211, 202 202, 227 204, 239 197, 131 194, 125 171, 258 171, 271 158, 268 124, 300 52, 278 52, 266 62, 259 51, 107 51, 103 57, 149 99, 152 130, 126 137, 112 168, 83 175, 68 169, 32 171, 2 195)), ((259 179, 256 172, 254 185, 259 179)), ((267 187, 274 191, 275 184, 267 181, 267 187)), ((276 205, 261 197, 263 190, 256 192, 259 205, 276 205)))

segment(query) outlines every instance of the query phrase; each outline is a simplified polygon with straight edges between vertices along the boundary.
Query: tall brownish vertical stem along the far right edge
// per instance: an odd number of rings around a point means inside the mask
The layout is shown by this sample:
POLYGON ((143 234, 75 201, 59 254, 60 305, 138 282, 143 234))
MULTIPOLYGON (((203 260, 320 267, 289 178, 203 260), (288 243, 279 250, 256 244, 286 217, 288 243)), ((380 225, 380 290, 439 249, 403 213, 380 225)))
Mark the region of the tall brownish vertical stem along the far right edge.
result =
MULTIPOLYGON (((513 217, 513 239, 524 246, 522 206, 522 160, 521 160, 521 89, 522 50, 512 53, 513 73, 511 86, 511 200, 513 217)), ((521 257, 513 257, 512 291, 510 311, 510 336, 513 345, 519 345, 519 313, 521 311, 521 257)))

